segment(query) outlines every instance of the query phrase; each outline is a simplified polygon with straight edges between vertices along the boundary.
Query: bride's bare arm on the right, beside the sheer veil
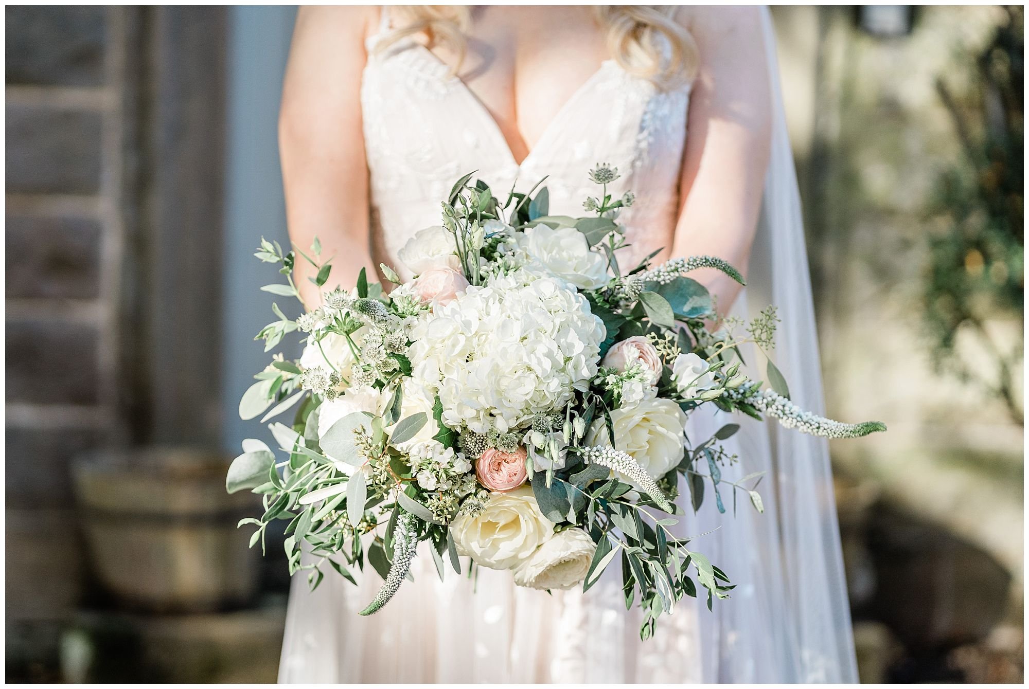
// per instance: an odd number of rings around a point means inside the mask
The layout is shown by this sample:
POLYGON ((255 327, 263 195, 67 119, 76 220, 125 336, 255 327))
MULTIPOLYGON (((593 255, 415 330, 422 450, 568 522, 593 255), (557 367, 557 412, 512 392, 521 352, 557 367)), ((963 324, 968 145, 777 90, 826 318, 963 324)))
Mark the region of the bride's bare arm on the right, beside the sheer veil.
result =
MULTIPOLYGON (((679 182, 673 256, 710 254, 746 275, 771 141, 772 100, 760 9, 695 7, 687 28, 700 49, 679 182)), ((691 278, 724 315, 740 285, 713 269, 691 278)))

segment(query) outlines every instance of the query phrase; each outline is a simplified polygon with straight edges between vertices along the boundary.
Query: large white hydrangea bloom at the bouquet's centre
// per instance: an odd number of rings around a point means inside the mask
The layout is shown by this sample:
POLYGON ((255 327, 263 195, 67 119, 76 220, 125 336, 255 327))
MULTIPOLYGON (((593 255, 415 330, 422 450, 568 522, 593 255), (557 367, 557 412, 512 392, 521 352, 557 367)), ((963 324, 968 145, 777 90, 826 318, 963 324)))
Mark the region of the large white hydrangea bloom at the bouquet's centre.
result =
POLYGON ((586 390, 604 336, 566 283, 516 271, 433 306, 413 329, 409 356, 449 427, 506 432, 586 390))

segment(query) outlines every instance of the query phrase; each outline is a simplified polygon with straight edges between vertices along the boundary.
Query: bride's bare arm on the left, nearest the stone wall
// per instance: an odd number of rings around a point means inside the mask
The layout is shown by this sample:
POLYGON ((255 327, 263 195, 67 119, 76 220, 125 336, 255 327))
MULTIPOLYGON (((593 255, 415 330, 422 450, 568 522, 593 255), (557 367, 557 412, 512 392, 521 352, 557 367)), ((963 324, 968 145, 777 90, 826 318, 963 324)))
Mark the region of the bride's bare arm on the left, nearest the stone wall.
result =
MULTIPOLYGON (((325 290, 349 290, 362 267, 369 279, 376 276, 360 105, 364 37, 374 11, 301 8, 283 83, 279 150, 289 237, 308 255, 318 237, 322 259, 332 258, 325 290)), ((309 309, 320 304, 318 288, 308 280, 314 275, 298 256, 294 280, 309 309)))

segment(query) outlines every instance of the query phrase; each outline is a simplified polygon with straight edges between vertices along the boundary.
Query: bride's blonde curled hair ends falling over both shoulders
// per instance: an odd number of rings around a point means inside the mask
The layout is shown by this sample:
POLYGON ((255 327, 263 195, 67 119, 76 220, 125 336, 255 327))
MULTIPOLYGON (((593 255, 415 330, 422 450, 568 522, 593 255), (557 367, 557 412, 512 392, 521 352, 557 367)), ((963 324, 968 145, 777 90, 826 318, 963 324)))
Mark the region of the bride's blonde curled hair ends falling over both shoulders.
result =
MULTIPOLYGON (((468 5, 401 5, 406 23, 379 42, 383 49, 405 36, 422 34, 429 47, 442 44, 458 56, 458 66, 467 51, 464 33, 471 26, 468 5)), ((614 60, 630 74, 649 79, 662 89, 693 81, 699 56, 693 36, 673 15, 675 5, 598 5, 598 24, 607 29, 607 46, 614 60), (663 55, 660 39, 668 45, 663 55)), ((383 10, 385 11, 385 9, 383 10)))

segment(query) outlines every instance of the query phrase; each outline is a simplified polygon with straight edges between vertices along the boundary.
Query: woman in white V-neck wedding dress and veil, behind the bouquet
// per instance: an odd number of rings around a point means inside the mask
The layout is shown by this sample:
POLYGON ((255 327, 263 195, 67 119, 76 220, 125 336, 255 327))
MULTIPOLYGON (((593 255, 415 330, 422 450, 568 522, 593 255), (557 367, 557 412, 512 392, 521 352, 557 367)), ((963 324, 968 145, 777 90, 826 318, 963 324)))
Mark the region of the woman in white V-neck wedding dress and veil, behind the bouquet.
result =
MULTIPOLYGON (((523 191, 548 176, 551 212, 577 216, 589 169, 616 166, 609 190, 637 196, 619 218, 632 243, 623 262, 664 248, 660 259, 714 254, 748 266, 743 291, 720 274, 691 277, 723 315, 779 307, 776 362, 793 399, 820 410, 767 10, 305 8, 280 139, 290 235, 307 247, 317 234, 343 285, 380 261, 409 278, 397 250, 438 224, 464 173, 523 191)), ((297 284, 317 302, 307 267, 297 264, 297 284)), ((707 437, 713 416, 695 413, 687 433, 707 437)), ((741 504, 721 515, 708 501, 680 524, 737 584, 713 610, 686 599, 643 642, 614 567, 589 593, 551 595, 483 568, 440 582, 422 556, 414 581, 370 617, 357 615, 381 583, 370 568, 358 586, 332 575, 314 592, 300 575, 280 681, 856 682, 825 441, 747 421, 728 444, 740 476, 767 472, 764 513, 741 504)))

